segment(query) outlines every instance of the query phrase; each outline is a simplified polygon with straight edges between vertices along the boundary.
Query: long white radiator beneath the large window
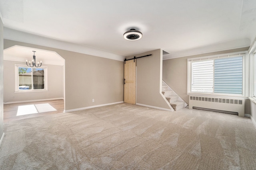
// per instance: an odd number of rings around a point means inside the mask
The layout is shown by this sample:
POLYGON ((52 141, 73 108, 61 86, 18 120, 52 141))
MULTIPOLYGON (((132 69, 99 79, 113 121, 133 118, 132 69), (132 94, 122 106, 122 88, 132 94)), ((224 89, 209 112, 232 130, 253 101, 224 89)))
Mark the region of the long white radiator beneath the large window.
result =
POLYGON ((189 108, 200 107, 220 111, 231 111, 244 116, 244 99, 189 96, 189 108))

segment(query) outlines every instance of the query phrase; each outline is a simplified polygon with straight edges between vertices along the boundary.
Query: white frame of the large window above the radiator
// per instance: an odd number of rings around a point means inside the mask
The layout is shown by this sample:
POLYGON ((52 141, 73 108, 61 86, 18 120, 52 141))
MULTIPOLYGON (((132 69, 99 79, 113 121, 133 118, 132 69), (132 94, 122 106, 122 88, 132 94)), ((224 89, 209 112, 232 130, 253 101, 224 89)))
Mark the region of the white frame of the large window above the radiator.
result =
MULTIPOLYGON (((211 55, 211 56, 204 56, 204 57, 195 57, 195 58, 189 58, 187 59, 187 95, 201 95, 201 96, 236 96, 236 97, 242 97, 245 98, 248 96, 248 72, 246 71, 246 68, 248 68, 248 51, 240 51, 235 53, 225 53, 220 55, 211 55), (192 86, 192 63, 197 61, 209 61, 214 59, 224 59, 224 58, 231 58, 231 57, 238 57, 242 56, 242 62, 243 62, 243 69, 242 69, 242 94, 228 94, 228 93, 214 93, 214 88, 212 93, 206 93, 206 92, 192 92, 191 86, 192 86)), ((214 83, 214 82, 213 82, 214 83)))

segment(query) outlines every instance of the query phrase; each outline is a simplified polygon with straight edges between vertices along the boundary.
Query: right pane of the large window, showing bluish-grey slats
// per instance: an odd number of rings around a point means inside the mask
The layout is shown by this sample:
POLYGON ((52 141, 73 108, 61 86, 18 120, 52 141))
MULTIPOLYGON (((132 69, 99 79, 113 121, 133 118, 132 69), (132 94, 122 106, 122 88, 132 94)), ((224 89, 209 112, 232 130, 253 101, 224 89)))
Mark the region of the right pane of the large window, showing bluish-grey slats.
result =
POLYGON ((243 58, 214 61, 214 93, 242 94, 243 58))

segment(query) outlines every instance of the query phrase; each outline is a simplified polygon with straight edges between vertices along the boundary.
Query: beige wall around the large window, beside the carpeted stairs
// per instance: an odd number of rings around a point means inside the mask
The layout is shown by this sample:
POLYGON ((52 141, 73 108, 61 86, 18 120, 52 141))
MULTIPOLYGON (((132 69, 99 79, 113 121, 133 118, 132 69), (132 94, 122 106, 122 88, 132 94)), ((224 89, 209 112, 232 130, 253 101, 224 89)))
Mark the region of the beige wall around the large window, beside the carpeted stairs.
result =
MULTIPOLYGON (((247 51, 249 47, 232 49, 226 51, 218 51, 214 53, 206 53, 200 55, 192 55, 187 57, 180 57, 168 59, 163 61, 163 80, 188 104, 187 95, 187 59, 195 57, 204 57, 211 55, 218 55, 224 53, 233 53, 238 51, 247 51)), ((245 113, 250 113, 250 102, 245 102, 245 113)))

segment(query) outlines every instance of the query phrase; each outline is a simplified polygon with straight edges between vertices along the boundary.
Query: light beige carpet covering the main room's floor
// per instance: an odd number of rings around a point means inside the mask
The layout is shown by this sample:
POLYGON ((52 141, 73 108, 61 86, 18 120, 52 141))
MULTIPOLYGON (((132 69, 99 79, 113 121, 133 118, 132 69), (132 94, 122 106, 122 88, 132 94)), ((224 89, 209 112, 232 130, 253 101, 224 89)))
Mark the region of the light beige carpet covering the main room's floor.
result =
POLYGON ((246 117, 116 104, 8 122, 1 170, 253 170, 246 117))

